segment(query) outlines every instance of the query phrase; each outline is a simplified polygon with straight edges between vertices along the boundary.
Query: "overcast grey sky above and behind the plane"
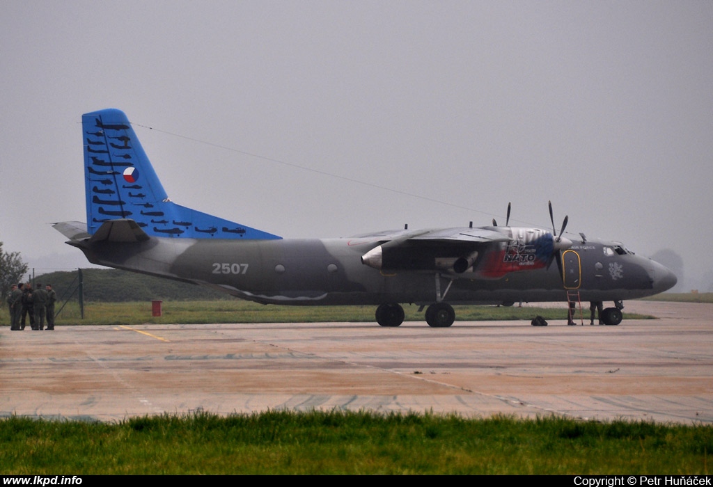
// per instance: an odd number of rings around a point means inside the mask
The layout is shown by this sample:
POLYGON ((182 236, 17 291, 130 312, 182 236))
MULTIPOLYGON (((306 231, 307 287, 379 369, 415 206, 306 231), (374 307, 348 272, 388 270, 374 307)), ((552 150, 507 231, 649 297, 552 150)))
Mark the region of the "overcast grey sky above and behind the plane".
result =
POLYGON ((512 201, 549 228, 551 199, 699 286, 712 26, 711 1, 5 0, 0 241, 85 265, 48 222, 86 220, 81 114, 111 107, 173 201, 240 224, 477 226, 512 201))

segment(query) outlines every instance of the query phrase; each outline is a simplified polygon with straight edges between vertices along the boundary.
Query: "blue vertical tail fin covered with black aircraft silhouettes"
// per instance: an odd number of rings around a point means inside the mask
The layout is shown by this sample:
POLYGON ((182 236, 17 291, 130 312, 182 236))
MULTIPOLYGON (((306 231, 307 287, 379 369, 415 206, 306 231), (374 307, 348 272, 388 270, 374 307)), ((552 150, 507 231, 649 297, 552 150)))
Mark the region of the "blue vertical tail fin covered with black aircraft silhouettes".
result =
POLYGON ((132 219, 157 237, 280 238, 170 201, 124 112, 82 115, 82 136, 88 234, 106 221, 132 219))

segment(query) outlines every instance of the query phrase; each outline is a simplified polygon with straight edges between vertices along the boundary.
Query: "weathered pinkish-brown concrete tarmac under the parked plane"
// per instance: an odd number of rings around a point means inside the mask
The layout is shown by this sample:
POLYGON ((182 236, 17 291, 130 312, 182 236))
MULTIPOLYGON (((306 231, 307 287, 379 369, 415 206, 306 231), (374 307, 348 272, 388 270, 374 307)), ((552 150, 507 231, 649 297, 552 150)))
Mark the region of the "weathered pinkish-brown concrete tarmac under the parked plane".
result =
POLYGON ((0 417, 337 408, 712 424, 713 305, 625 305, 660 319, 3 327, 0 417))

